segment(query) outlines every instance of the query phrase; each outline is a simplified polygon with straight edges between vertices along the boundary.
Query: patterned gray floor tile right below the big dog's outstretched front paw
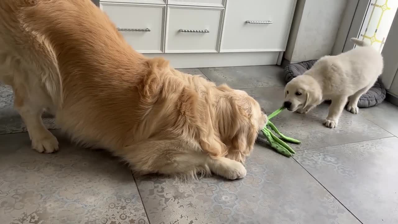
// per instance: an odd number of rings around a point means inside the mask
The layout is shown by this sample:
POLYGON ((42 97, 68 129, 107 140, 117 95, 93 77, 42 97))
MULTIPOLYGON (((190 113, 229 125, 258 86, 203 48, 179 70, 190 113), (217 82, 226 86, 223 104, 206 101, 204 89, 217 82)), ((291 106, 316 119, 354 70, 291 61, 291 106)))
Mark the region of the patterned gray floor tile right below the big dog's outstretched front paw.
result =
POLYGON ((241 180, 137 178, 151 224, 360 223, 293 159, 256 146, 241 180))

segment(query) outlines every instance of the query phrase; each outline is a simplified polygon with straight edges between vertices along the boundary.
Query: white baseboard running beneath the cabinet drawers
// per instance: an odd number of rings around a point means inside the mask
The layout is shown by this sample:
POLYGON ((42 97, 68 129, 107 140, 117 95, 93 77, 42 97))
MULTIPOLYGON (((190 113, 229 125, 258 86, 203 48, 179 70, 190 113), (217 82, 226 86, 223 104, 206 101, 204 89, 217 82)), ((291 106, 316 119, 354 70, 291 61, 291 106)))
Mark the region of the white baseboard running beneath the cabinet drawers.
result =
POLYGON ((146 57, 164 57, 176 69, 232 67, 249 65, 276 65, 278 51, 239 53, 167 53, 144 54, 146 57))

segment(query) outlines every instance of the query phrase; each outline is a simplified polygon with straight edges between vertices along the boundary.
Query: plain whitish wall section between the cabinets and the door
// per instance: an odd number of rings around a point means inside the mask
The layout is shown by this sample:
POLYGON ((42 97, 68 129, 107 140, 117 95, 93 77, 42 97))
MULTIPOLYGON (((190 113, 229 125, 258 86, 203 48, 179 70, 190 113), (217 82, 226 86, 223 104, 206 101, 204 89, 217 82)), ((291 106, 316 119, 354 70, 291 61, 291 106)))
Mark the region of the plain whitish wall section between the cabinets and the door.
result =
POLYGON ((297 0, 283 57, 296 63, 331 54, 347 1, 297 0))

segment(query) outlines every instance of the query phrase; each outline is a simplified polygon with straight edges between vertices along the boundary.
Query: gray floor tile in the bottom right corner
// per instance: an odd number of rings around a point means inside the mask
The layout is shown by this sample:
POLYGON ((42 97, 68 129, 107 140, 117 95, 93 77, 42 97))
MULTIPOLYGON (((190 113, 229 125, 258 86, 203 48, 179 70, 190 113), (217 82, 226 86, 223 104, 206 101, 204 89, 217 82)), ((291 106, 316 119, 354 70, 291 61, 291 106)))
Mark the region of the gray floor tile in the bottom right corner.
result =
POLYGON ((299 151, 294 158, 363 224, 398 223, 398 138, 299 151))

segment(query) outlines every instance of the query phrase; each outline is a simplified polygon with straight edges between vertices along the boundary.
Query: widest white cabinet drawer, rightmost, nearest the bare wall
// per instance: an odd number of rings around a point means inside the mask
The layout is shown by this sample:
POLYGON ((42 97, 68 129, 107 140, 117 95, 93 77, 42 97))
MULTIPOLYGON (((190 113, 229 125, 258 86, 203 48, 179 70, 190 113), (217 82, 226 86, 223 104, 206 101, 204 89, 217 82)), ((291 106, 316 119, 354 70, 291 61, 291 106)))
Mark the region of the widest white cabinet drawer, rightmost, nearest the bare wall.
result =
POLYGON ((296 0, 228 1, 220 52, 285 51, 296 0))

